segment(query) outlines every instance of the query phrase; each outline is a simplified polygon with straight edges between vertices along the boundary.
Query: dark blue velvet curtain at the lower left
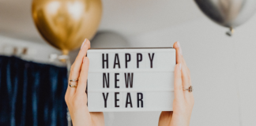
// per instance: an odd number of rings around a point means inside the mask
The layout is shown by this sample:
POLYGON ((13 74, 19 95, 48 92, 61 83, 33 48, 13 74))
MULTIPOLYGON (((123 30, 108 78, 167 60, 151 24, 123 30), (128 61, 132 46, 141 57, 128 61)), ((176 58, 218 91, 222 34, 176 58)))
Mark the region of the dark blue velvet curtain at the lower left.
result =
POLYGON ((0 125, 66 126, 66 68, 0 56, 0 125))

